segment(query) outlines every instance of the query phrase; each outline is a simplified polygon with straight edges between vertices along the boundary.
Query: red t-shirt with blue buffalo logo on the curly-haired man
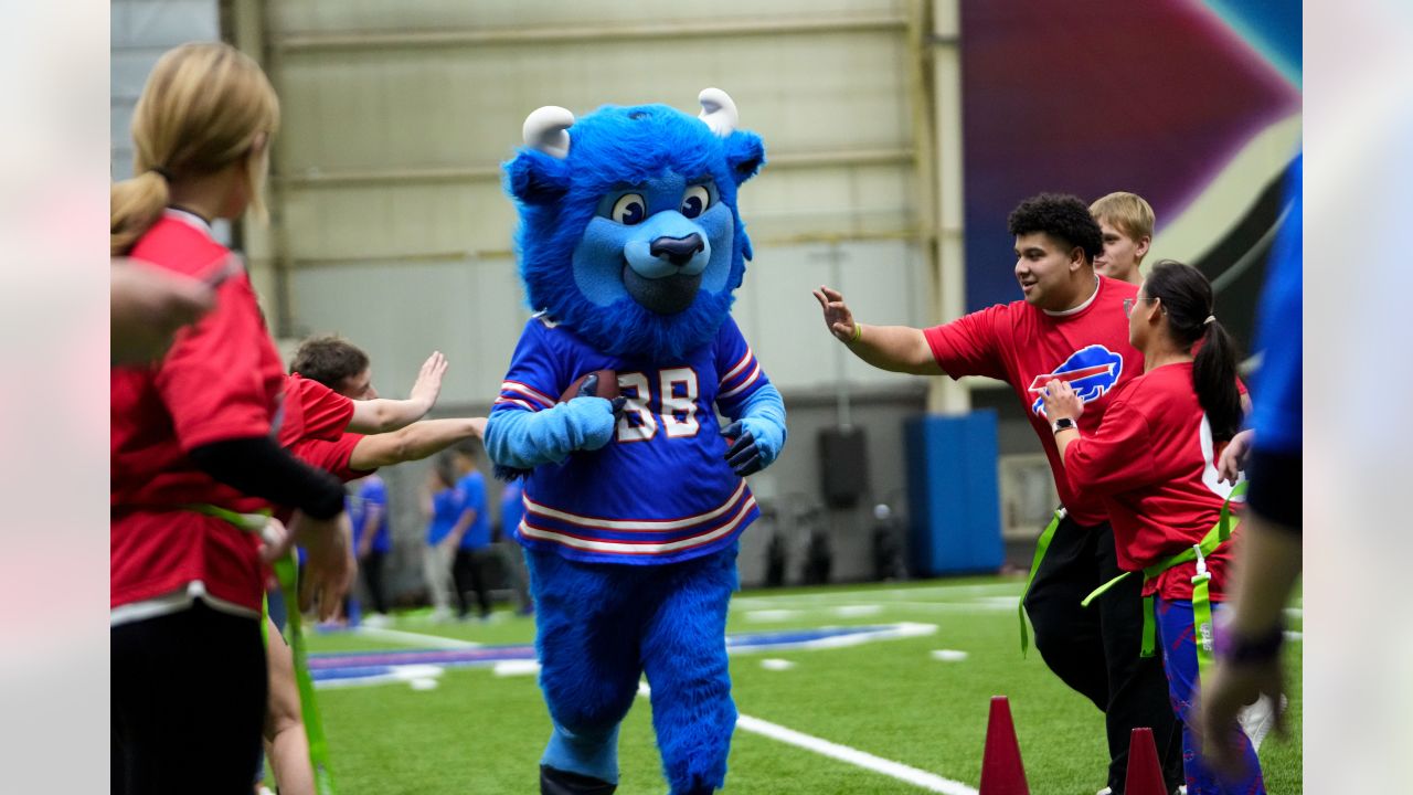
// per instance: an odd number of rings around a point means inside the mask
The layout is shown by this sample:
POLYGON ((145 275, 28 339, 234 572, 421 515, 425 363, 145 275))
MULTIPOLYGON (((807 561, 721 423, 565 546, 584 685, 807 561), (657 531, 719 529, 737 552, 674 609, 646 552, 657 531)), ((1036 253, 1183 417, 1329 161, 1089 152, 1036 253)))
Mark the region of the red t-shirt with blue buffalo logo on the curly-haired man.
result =
POLYGON ((1099 427, 1112 390, 1143 372, 1143 354, 1129 345, 1123 314, 1123 298, 1136 294, 1136 286, 1101 276, 1094 297, 1063 315, 1012 301, 923 331, 947 375, 983 375, 1010 385, 1050 458, 1060 502, 1081 525, 1104 523, 1108 515, 1098 495, 1072 488, 1064 475, 1040 392, 1051 378, 1068 381, 1084 399, 1080 431, 1099 427))

